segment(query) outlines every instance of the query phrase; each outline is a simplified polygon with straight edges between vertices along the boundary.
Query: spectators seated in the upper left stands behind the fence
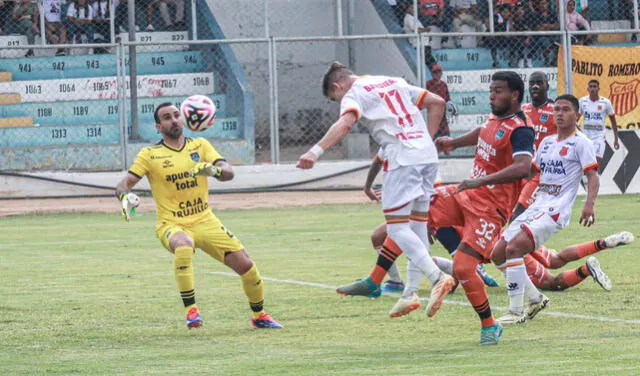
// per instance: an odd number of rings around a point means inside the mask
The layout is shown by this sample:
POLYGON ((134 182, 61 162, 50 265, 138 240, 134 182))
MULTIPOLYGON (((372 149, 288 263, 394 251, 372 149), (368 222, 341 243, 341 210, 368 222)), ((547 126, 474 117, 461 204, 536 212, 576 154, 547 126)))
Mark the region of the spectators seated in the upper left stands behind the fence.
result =
MULTIPOLYGON (((115 32, 126 32, 127 0, 44 0, 42 13, 47 44, 110 42, 112 6, 115 8, 115 32)), ((138 18, 145 20, 145 31, 186 30, 184 0, 142 0, 136 1, 135 7, 138 14, 144 15, 138 18)), ((140 30, 137 25, 136 30, 140 30)), ((11 34, 25 35, 29 44, 35 44, 36 36, 40 35, 37 0, 0 0, 0 35, 11 34)), ((96 49, 95 52, 105 50, 96 49)), ((67 53, 65 49, 58 49, 56 55, 67 53)), ((29 50, 27 56, 32 55, 33 51, 29 50)))

